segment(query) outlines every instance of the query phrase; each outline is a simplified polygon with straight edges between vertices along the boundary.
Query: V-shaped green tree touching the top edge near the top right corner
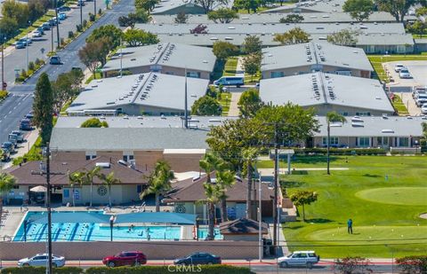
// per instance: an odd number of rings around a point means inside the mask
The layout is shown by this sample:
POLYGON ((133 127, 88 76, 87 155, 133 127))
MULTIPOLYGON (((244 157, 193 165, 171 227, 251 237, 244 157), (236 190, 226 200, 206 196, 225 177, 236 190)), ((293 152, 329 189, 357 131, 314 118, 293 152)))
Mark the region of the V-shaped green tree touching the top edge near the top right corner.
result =
POLYGON ((411 6, 421 4, 426 6, 425 0, 376 0, 378 9, 389 12, 398 22, 403 22, 405 15, 411 6))

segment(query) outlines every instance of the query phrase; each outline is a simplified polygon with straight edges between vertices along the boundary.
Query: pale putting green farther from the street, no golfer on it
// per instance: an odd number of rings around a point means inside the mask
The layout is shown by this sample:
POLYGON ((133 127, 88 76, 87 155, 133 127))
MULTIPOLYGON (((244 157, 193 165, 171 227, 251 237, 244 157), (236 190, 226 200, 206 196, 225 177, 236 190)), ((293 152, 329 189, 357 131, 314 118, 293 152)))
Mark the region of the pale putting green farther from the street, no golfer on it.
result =
POLYGON ((427 206, 427 187, 384 187, 356 192, 356 197, 383 204, 427 206))

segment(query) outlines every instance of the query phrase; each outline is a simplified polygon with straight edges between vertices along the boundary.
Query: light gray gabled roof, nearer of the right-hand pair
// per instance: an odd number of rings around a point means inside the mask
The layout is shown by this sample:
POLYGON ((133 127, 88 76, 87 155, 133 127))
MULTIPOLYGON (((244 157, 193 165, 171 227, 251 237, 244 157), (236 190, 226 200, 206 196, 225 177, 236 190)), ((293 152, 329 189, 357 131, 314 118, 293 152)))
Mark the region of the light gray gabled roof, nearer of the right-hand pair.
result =
POLYGON ((287 102, 300 106, 331 104, 394 112, 380 82, 337 74, 315 73, 265 79, 260 83, 260 96, 264 102, 273 105, 287 102), (318 96, 315 86, 318 87, 318 96), (329 89, 334 97, 329 94, 329 89))

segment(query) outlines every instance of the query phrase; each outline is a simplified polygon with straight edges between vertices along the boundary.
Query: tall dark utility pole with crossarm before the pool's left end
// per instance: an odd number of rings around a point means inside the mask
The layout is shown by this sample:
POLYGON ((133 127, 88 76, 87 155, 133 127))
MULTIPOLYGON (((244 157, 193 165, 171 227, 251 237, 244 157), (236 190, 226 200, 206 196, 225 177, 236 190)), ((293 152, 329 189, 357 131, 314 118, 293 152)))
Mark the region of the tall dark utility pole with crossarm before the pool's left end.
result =
POLYGON ((49 148, 49 142, 46 144, 46 169, 41 169, 39 172, 31 171, 32 175, 46 176, 46 209, 47 209, 47 255, 48 255, 48 267, 46 273, 52 274, 52 208, 51 208, 51 175, 64 175, 63 172, 51 172, 51 151, 49 148))

